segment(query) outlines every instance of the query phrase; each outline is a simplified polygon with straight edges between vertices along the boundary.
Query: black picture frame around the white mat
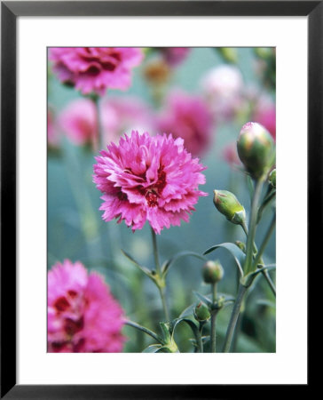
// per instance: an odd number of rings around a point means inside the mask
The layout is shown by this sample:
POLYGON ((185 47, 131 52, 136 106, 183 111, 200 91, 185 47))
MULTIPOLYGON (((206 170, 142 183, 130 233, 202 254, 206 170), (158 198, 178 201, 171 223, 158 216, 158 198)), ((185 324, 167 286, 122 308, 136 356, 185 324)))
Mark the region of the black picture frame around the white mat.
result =
MULTIPOLYGON (((322 234, 323 2, 106 1, 1 3, 1 398, 231 398, 248 386, 16 384, 16 20, 20 16, 307 16, 308 18, 308 266, 322 234)), ((303 182, 303 187, 306 182, 303 182)), ((295 188, 296 190, 296 188, 295 188)), ((299 190, 299 189, 298 189, 299 190)), ((305 196, 304 194, 302 196, 305 196)), ((309 308, 310 309, 310 308, 309 308)), ((309 381, 310 383, 310 377, 309 381)), ((298 394, 308 385, 300 385, 298 394)), ((253 391, 262 393, 262 386, 253 391)), ((266 395, 276 388, 266 388, 266 395)), ((280 394, 282 386, 280 387, 280 394)), ((288 388, 289 390, 289 388, 288 388)))

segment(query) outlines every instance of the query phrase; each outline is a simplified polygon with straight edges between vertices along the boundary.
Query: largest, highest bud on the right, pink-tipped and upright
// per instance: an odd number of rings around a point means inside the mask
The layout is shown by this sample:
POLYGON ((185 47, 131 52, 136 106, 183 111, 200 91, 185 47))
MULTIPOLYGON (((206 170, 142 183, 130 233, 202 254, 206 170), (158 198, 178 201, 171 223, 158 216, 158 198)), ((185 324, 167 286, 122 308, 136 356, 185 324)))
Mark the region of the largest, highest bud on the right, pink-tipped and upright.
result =
POLYGON ((248 122, 242 126, 237 142, 238 154, 252 178, 258 179, 268 172, 275 158, 275 145, 271 134, 263 125, 248 122))

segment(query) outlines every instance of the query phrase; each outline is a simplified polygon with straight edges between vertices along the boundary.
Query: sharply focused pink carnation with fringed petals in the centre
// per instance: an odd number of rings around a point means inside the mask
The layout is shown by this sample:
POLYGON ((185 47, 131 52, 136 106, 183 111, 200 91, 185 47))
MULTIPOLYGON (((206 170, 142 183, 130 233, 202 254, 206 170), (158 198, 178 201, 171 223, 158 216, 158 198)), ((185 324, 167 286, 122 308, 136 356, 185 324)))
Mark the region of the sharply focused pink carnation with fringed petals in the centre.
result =
POLYGON ((184 140, 171 134, 149 136, 132 131, 119 146, 111 143, 94 165, 94 182, 104 194, 100 207, 103 220, 122 220, 132 228, 143 228, 146 220, 160 233, 162 228, 188 222, 205 183, 205 169, 187 153, 184 140))

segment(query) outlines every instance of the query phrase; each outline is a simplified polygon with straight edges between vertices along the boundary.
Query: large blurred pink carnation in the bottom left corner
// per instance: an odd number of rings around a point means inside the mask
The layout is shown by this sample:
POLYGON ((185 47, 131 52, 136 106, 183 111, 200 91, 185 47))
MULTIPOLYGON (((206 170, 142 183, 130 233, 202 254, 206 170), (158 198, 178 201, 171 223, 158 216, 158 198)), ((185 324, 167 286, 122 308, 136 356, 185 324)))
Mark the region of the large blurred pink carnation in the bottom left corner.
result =
POLYGON ((65 260, 48 273, 48 351, 116 353, 124 337, 122 308, 103 278, 65 260))

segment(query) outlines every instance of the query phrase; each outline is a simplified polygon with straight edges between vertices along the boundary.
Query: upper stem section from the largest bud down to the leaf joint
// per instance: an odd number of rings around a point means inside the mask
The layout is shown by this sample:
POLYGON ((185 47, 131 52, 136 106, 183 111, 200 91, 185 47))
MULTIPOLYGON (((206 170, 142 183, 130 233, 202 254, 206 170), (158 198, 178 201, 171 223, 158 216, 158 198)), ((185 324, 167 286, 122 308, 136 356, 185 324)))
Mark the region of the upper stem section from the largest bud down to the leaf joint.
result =
POLYGON ((244 266, 244 274, 248 275, 252 270, 252 260, 253 260, 253 248, 256 234, 256 218, 258 214, 258 203, 261 195, 261 191, 264 184, 264 178, 256 180, 256 188, 254 196, 251 202, 251 214, 248 227, 248 236, 246 244, 246 261, 244 266))

